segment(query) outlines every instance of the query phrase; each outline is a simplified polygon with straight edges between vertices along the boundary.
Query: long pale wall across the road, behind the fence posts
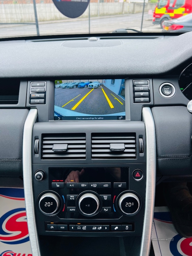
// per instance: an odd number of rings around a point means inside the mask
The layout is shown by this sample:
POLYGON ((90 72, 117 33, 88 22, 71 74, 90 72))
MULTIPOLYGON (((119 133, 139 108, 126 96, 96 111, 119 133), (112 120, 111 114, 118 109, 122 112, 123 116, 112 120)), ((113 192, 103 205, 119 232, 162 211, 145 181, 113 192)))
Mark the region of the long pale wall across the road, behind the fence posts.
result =
MULTIPOLYGON (((145 11, 155 9, 156 4, 147 3, 145 11)), ((54 4, 36 4, 38 21, 71 20, 61 14, 54 4)), ((90 16, 117 15, 142 12, 142 3, 91 3, 90 16), (99 12, 98 12, 99 8, 99 12)), ((87 18, 89 8, 80 16, 87 18)), ((35 22, 33 4, 0 4, 0 23, 35 22)))

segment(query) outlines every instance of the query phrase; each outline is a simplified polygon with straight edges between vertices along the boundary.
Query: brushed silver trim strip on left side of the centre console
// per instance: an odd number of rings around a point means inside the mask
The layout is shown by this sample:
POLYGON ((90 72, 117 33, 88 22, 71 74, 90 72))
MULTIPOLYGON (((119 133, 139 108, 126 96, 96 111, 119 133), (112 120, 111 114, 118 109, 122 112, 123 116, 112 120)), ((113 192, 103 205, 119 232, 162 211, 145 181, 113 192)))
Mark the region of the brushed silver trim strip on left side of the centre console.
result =
POLYGON ((32 185, 32 133, 36 117, 37 109, 31 108, 23 129, 23 183, 31 252, 33 256, 41 256, 36 228, 32 185))

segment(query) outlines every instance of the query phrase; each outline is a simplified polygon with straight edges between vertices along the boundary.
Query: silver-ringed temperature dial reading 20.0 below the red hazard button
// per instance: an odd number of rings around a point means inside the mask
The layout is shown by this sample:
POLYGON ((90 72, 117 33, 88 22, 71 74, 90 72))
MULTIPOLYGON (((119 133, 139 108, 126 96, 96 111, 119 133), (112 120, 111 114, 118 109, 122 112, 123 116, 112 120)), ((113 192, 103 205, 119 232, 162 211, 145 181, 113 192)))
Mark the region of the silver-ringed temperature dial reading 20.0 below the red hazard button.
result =
POLYGON ((124 214, 135 214, 139 211, 140 200, 139 197, 133 193, 125 193, 120 196, 118 205, 124 214))

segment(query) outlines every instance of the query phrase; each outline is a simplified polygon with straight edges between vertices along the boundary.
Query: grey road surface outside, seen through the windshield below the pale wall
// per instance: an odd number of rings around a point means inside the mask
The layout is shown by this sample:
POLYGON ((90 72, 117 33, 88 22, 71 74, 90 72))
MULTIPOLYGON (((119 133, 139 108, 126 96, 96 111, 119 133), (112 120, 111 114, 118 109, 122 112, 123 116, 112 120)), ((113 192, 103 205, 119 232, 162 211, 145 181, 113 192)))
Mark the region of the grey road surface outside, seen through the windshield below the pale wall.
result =
MULTIPOLYGON (((141 29, 142 13, 128 13, 116 16, 91 17, 90 33, 110 33, 118 28, 141 29)), ((40 35, 85 34, 89 33, 88 18, 39 22, 40 35)), ((152 16, 144 13, 142 31, 161 32, 160 25, 152 24, 152 16)), ((0 38, 9 36, 36 36, 35 25, 1 25, 0 38)))

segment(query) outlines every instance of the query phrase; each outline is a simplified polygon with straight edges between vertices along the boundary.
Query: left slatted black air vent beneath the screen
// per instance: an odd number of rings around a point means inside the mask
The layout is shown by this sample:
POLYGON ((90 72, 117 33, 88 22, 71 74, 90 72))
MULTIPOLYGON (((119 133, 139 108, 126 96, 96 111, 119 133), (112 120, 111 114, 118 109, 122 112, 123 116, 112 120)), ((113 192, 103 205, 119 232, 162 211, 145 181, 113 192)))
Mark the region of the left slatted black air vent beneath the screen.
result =
POLYGON ((43 134, 42 159, 85 159, 85 133, 43 134), (54 152, 53 144, 67 144, 67 151, 54 152))

